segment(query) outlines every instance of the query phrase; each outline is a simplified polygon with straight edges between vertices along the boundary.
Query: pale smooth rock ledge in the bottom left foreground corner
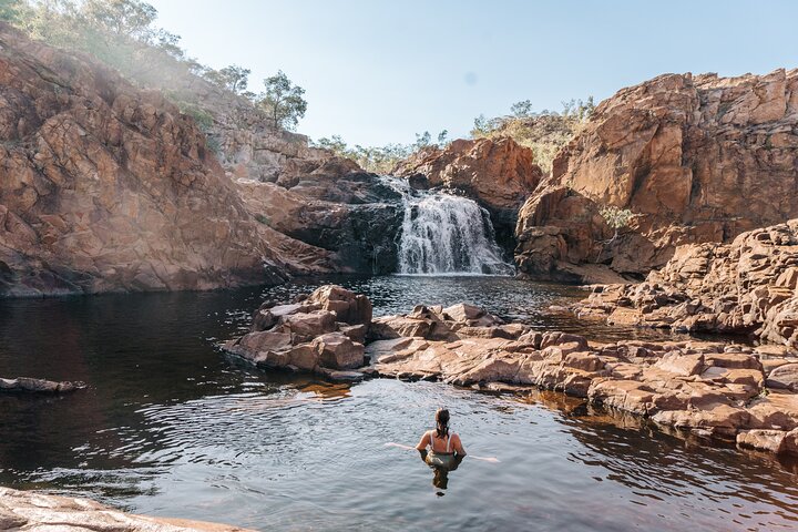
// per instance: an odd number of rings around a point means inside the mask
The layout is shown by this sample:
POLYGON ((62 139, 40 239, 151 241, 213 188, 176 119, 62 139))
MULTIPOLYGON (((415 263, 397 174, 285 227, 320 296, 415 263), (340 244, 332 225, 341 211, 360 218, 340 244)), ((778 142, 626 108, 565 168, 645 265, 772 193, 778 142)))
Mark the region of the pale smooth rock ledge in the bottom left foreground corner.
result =
POLYGON ((0 530, 103 532, 246 532, 226 524, 150 518, 124 513, 98 502, 35 491, 0 488, 0 530))

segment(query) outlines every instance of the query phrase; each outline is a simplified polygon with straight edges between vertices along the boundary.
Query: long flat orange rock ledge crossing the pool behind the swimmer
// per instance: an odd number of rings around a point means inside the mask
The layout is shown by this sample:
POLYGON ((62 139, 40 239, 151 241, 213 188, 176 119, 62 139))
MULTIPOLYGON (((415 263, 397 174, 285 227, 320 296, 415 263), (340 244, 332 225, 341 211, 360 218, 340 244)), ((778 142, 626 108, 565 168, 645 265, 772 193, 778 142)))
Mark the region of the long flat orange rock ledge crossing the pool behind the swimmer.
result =
POLYGON ((225 349, 260 367, 332 378, 538 387, 702 438, 798 454, 798 357, 785 346, 596 344, 466 304, 371 319, 365 296, 325 286, 289 305, 264 305, 252 331, 225 349))

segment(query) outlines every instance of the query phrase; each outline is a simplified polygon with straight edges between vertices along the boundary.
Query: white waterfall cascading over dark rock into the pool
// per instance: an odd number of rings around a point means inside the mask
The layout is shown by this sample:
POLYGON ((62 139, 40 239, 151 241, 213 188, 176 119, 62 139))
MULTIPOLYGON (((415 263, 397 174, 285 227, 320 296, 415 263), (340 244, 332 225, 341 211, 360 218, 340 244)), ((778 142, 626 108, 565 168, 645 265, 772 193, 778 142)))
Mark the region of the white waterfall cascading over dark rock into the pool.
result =
POLYGON ((417 191, 385 177, 402 195, 398 272, 407 275, 512 275, 502 259, 488 212, 477 202, 438 191, 417 191))

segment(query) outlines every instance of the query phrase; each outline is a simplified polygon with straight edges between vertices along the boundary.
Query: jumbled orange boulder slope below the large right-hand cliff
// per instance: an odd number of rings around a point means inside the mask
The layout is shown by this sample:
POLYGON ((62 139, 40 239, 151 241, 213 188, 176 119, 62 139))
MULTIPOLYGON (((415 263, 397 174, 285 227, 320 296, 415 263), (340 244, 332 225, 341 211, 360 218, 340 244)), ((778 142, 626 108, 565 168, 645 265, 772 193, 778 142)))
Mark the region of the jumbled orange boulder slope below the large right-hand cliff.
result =
MULTIPOLYGON (((798 329, 788 316, 798 310, 798 291, 779 286, 791 283, 786 274, 792 264, 798 264, 798 219, 743 233, 730 244, 681 246, 644 283, 594 290, 574 309, 580 316, 617 321, 622 315, 626 324, 676 331, 756 334, 780 344, 776 355, 795 356, 798 329)), ((774 347, 759 346, 756 355, 770 357, 774 347)), ((755 365, 745 354, 718 354, 714 360, 755 365)))

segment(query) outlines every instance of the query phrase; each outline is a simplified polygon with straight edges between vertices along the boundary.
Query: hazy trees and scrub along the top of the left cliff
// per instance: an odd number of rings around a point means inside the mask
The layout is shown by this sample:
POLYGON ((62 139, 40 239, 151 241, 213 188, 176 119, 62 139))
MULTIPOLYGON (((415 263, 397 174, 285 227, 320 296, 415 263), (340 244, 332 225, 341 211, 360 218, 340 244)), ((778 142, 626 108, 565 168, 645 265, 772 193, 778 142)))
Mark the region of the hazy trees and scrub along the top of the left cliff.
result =
POLYGON ((187 57, 178 35, 155 24, 156 19, 157 10, 143 0, 0 0, 0 20, 48 44, 91 54, 134 83, 163 89, 181 111, 198 116, 205 130, 208 116, 200 113, 202 99, 192 89, 193 76, 259 104, 257 109, 276 117, 277 125, 293 127, 305 114, 305 91, 282 72, 267 79, 266 92, 257 95, 247 91, 249 69, 201 64, 187 57), (186 109, 187 104, 197 109, 186 109))

